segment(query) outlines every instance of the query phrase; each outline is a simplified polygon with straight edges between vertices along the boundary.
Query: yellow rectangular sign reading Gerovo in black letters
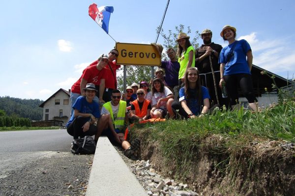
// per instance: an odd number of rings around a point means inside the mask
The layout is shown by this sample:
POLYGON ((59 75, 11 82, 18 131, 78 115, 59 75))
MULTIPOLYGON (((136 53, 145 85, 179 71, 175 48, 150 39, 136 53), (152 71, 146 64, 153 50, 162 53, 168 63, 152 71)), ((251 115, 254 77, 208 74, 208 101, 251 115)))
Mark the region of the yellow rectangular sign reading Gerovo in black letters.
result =
POLYGON ((160 66, 161 56, 158 50, 150 44, 116 43, 119 51, 117 64, 160 66))

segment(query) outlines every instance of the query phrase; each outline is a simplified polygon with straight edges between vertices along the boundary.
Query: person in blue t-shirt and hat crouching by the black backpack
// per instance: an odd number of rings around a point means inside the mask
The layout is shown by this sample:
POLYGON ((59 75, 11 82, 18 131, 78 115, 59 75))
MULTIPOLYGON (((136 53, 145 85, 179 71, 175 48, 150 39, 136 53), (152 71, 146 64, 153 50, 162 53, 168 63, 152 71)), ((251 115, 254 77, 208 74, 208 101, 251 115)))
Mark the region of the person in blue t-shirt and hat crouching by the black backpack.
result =
POLYGON ((93 101, 97 90, 95 85, 89 83, 83 89, 86 97, 80 96, 73 105, 74 112, 66 124, 67 132, 74 139, 92 136, 97 133, 97 128, 94 125, 96 120, 100 118, 99 105, 93 101))

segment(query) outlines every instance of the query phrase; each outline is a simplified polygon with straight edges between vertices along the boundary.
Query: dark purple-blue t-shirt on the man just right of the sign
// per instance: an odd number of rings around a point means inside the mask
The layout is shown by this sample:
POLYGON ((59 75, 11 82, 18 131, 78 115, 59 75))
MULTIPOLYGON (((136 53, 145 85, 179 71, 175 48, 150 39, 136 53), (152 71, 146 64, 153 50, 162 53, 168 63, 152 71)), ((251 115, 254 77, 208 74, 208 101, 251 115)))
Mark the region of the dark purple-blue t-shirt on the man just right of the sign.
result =
POLYGON ((161 68, 165 70, 165 82, 168 86, 178 85, 178 72, 180 64, 178 61, 162 61, 161 68))

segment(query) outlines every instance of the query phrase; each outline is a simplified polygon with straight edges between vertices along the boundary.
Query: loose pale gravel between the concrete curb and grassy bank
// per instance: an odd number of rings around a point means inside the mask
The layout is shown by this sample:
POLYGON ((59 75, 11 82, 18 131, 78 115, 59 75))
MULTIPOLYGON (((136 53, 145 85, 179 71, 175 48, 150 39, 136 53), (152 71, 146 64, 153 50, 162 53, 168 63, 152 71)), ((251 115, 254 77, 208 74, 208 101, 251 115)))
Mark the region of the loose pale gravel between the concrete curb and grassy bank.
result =
MULTIPOLYGON (((148 196, 203 196, 203 193, 195 192, 195 187, 189 187, 187 184, 177 182, 174 179, 163 178, 153 169, 149 160, 137 160, 136 157, 129 159, 123 155, 120 148, 117 147, 116 149, 147 191, 148 196)), ((219 193, 218 196, 222 196, 222 194, 219 193)))

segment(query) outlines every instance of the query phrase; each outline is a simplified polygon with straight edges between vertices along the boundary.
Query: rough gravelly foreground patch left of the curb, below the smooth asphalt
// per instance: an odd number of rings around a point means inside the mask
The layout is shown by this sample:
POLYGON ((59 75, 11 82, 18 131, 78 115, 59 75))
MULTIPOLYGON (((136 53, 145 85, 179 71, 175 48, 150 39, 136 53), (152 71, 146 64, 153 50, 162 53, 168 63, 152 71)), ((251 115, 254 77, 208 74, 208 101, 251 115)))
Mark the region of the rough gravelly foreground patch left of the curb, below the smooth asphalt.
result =
POLYGON ((0 196, 85 196, 93 155, 53 152, 0 175, 0 196))

